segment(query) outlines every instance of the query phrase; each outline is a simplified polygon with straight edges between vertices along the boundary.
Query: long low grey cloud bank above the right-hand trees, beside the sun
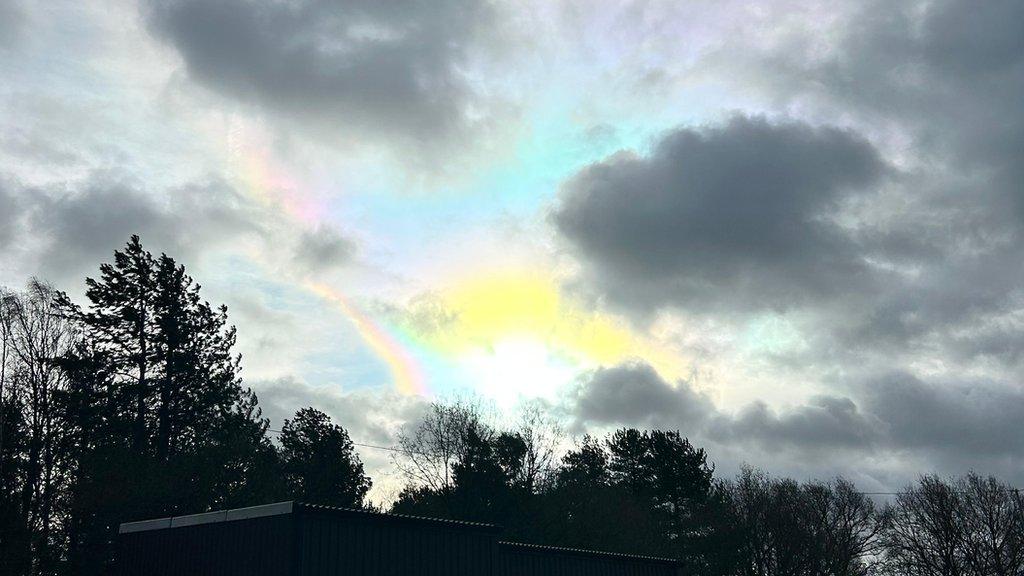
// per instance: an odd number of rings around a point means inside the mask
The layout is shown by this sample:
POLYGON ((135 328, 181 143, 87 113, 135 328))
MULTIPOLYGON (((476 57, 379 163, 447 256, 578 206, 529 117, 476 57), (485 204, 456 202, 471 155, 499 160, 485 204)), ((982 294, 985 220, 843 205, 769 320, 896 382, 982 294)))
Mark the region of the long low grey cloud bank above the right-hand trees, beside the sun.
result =
POLYGON ((753 402, 737 412, 717 408, 684 381, 670 384, 643 364, 598 370, 577 386, 563 409, 582 429, 680 429, 713 454, 717 448, 768 467, 784 453, 787 461, 817 461, 827 470, 840 458, 834 455, 845 454, 865 462, 912 457, 943 472, 984 468, 1024 479, 1018 458, 1024 392, 1006 383, 926 381, 900 372, 860 381, 851 397, 819 395, 781 410, 753 402))

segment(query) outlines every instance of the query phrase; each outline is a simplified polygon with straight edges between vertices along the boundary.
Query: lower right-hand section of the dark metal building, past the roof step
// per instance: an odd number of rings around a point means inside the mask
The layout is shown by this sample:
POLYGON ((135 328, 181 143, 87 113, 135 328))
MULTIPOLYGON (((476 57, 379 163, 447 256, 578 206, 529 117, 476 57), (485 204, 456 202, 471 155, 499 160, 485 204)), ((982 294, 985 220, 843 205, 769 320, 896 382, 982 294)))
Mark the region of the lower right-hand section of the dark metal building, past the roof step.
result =
POLYGON ((499 576, 679 576, 662 559, 502 542, 499 576))

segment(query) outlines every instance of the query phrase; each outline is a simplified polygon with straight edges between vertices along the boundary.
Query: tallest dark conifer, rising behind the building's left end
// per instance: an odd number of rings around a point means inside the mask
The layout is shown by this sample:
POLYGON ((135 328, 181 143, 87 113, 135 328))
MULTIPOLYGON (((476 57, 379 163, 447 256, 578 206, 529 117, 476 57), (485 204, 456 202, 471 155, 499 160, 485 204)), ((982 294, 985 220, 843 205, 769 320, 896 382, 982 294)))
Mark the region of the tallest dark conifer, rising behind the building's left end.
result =
POLYGON ((255 468, 274 461, 226 308, 137 236, 99 271, 86 279, 86 306, 54 298, 80 334, 56 364, 71 382, 68 554, 82 574, 112 562, 118 522, 244 502, 269 476, 255 468))

